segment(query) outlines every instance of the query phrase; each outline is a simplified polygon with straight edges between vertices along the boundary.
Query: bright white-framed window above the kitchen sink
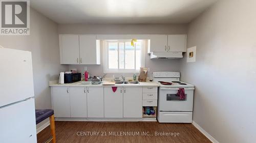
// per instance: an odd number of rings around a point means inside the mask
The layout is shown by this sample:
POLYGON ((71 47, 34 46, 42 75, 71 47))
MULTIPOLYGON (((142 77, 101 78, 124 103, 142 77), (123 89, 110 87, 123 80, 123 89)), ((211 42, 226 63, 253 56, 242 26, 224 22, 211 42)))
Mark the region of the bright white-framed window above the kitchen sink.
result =
POLYGON ((105 40, 104 73, 138 73, 144 67, 145 41, 105 40))

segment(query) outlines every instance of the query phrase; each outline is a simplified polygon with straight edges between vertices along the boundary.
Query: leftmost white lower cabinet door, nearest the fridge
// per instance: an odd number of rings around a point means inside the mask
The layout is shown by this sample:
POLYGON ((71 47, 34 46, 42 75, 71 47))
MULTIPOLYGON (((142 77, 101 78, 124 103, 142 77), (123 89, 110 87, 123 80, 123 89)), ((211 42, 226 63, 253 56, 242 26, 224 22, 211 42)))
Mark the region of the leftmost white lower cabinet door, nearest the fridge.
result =
POLYGON ((52 104, 55 117, 70 118, 69 87, 52 87, 52 104))

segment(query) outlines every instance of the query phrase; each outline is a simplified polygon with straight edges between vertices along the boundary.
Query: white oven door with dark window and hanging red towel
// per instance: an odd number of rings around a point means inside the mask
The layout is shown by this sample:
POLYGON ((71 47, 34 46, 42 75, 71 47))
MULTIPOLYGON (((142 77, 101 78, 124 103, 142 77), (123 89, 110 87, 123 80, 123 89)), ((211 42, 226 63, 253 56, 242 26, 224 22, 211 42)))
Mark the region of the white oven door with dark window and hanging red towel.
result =
POLYGON ((158 108, 160 111, 193 111, 194 88, 184 88, 185 99, 180 100, 178 88, 160 88, 158 108))

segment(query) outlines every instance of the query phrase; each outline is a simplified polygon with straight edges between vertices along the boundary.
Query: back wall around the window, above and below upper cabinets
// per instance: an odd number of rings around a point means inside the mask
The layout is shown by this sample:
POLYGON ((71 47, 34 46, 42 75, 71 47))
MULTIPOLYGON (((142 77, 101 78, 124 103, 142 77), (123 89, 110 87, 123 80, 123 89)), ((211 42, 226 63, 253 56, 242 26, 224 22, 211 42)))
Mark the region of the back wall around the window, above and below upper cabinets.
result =
MULTIPOLYGON (((59 34, 186 34, 187 24, 59 24, 58 29, 59 34)), ((145 55, 145 67, 151 68, 148 76, 152 76, 153 71, 179 71, 179 64, 180 60, 150 60, 150 56, 145 55)), ((92 75, 103 75, 103 58, 101 65, 70 65, 69 69, 76 68, 83 72, 84 66, 92 75)), ((115 76, 119 77, 120 74, 115 76)), ((132 74, 125 76, 132 77, 132 74)))

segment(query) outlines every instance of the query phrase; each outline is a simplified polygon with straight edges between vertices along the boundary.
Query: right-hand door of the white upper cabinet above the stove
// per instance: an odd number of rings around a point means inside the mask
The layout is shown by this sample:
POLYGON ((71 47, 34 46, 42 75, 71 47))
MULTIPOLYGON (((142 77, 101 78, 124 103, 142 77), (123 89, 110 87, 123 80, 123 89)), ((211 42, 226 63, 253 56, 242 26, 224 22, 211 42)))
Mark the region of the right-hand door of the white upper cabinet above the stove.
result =
POLYGON ((186 35, 168 35, 168 52, 186 52, 186 35))

